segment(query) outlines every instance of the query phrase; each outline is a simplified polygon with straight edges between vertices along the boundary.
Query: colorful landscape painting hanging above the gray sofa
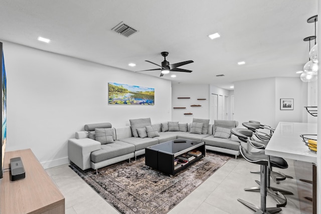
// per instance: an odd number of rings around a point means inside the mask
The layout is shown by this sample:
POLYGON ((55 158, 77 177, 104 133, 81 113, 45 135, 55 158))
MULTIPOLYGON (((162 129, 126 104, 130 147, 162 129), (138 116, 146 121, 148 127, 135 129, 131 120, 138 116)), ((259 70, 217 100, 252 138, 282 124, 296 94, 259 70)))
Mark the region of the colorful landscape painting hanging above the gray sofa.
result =
POLYGON ((153 88, 108 83, 108 104, 115 105, 154 105, 153 88))

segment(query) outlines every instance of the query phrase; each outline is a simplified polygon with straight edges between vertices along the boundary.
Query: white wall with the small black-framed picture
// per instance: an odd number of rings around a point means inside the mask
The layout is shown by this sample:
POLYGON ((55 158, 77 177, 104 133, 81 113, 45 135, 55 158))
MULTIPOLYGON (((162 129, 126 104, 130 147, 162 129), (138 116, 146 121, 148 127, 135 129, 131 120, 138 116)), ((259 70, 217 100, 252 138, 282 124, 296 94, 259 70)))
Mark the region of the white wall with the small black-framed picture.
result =
POLYGON ((277 77, 234 83, 235 119, 257 120, 276 127, 279 121, 306 122, 307 83, 299 78, 277 77), (294 110, 280 110, 280 98, 293 98, 294 110))

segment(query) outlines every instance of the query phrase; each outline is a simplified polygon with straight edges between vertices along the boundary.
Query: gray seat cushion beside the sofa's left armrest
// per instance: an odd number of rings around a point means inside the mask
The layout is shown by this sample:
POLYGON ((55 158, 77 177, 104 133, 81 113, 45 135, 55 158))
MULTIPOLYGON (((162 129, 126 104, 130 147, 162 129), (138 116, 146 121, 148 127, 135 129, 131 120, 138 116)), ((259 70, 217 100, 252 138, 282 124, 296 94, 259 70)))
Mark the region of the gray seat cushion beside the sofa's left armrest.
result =
POLYGON ((101 145, 101 149, 91 152, 90 159, 97 163, 120 155, 129 154, 135 151, 135 146, 119 140, 114 143, 101 145))

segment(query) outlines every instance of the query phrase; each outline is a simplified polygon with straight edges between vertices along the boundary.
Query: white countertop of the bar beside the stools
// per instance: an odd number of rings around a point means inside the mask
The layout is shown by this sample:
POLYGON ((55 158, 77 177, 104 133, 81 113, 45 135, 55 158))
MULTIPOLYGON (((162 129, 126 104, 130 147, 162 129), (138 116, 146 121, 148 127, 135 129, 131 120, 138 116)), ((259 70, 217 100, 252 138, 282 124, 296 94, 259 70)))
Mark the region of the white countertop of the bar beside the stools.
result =
POLYGON ((265 154, 316 164, 316 152, 308 149, 301 134, 317 134, 317 124, 279 122, 265 154))

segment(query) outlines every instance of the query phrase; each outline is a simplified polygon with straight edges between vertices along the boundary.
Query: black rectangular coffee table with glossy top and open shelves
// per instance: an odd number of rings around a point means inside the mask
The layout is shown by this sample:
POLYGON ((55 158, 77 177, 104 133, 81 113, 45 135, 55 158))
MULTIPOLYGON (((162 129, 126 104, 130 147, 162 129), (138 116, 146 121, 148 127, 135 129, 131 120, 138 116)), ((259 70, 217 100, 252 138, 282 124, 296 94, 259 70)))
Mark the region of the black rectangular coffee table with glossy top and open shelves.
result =
POLYGON ((203 157, 205 157, 205 143, 197 140, 179 138, 145 148, 145 164, 169 175, 175 175, 203 157), (201 151, 202 154, 190 160, 186 165, 175 169, 174 160, 176 157, 193 149, 201 151))

